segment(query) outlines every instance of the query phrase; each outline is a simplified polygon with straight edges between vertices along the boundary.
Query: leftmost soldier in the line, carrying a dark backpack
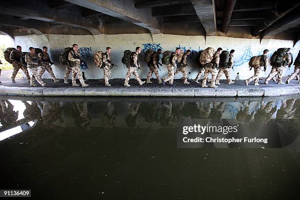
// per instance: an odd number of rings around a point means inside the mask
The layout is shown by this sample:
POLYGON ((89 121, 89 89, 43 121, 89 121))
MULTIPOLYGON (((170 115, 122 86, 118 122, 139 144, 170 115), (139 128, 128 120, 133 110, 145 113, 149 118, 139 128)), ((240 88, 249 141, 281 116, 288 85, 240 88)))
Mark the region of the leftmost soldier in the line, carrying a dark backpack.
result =
POLYGON ((9 59, 12 61, 12 65, 14 68, 13 73, 11 75, 12 82, 16 82, 15 77, 18 74, 20 69, 23 70, 23 72, 25 73, 26 80, 30 82, 30 76, 28 74, 27 68, 21 64, 21 51, 22 51, 22 47, 18 45, 17 49, 12 50, 9 56, 9 59))

